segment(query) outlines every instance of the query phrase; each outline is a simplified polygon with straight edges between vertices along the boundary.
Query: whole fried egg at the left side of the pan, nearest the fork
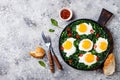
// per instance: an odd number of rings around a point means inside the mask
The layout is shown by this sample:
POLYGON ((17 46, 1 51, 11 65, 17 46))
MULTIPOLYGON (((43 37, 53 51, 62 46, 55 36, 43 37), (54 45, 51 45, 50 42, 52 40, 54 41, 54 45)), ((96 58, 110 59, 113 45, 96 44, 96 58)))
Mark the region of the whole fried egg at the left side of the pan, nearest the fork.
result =
POLYGON ((68 38, 63 44, 62 47, 64 48, 64 52, 66 56, 69 57, 70 55, 74 54, 76 51, 76 47, 74 46, 74 38, 68 38))

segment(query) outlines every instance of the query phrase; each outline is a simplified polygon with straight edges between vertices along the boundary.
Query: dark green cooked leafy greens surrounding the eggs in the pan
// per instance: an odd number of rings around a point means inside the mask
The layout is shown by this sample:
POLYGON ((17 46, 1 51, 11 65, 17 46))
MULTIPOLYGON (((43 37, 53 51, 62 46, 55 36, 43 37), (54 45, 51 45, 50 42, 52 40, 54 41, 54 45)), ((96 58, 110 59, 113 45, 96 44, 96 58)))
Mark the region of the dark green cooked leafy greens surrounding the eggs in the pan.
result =
POLYGON ((109 35, 108 33, 104 30, 104 28, 102 28, 99 24, 97 24, 94 21, 91 20, 77 20, 74 21, 72 23, 70 23, 61 33, 60 36, 60 46, 61 47, 63 45, 63 43, 70 38, 68 36, 68 28, 71 28, 71 33, 73 34, 72 37, 75 38, 76 40, 74 41, 74 46, 76 47, 76 51, 73 55, 67 57, 66 53, 61 49, 60 53, 63 57, 63 59, 65 60, 65 62, 67 64, 69 64, 70 66, 76 68, 76 69, 82 69, 82 70, 92 70, 92 69, 96 69, 99 65, 101 65, 103 63, 103 61, 105 60, 106 56, 108 55, 109 51, 110 51, 110 40, 109 40, 109 35), (77 39, 76 35, 79 35, 76 32, 76 25, 79 25, 81 23, 87 23, 87 24, 91 24, 92 28, 94 29, 94 33, 93 34, 89 34, 89 35, 80 35, 80 38, 77 39), (96 37, 96 34, 99 34, 98 37, 96 37), (83 62, 79 62, 79 54, 86 54, 86 51, 82 51, 79 50, 79 43, 81 40, 83 39, 90 39, 94 44, 96 43, 96 41, 98 40, 99 37, 105 38, 108 40, 108 48, 105 52, 102 52, 101 54, 97 53, 96 50, 94 48, 92 48, 89 52, 91 52, 93 55, 96 55, 97 57, 99 57, 99 60, 96 61, 95 64, 92 64, 90 66, 88 66, 87 64, 84 64, 83 62), (72 60, 72 63, 69 63, 69 60, 72 60))

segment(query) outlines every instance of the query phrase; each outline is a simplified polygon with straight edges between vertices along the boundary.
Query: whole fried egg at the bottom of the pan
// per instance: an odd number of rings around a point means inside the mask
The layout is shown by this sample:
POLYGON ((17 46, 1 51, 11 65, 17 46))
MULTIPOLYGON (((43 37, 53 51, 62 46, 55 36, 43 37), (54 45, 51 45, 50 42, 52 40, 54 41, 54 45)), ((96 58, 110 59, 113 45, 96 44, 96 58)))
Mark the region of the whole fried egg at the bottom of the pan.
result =
POLYGON ((91 52, 87 52, 83 56, 79 56, 79 62, 91 66, 97 62, 97 56, 93 55, 91 52))

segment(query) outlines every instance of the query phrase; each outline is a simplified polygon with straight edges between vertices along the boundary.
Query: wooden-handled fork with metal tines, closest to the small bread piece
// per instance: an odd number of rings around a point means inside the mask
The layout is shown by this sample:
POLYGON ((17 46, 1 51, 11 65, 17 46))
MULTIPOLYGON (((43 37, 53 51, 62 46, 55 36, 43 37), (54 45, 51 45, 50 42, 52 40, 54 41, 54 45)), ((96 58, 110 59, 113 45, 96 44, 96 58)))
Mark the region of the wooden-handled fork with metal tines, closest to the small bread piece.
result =
POLYGON ((54 73, 54 63, 53 63, 53 58, 52 58, 52 54, 50 51, 50 45, 51 45, 51 41, 49 39, 49 37, 45 36, 44 33, 42 32, 42 38, 45 42, 45 45, 48 47, 48 60, 49 60, 49 65, 50 65, 50 70, 52 73, 54 73))

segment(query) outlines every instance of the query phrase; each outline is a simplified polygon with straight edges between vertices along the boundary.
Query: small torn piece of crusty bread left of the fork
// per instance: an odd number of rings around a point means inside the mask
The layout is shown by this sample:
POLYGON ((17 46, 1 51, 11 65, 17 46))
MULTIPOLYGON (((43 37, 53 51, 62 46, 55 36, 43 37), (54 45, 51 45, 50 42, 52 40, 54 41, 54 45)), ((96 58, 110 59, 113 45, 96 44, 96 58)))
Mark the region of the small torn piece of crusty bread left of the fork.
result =
POLYGON ((36 51, 31 51, 30 55, 35 58, 43 58, 45 55, 45 50, 41 47, 37 47, 36 51))

